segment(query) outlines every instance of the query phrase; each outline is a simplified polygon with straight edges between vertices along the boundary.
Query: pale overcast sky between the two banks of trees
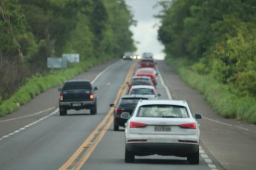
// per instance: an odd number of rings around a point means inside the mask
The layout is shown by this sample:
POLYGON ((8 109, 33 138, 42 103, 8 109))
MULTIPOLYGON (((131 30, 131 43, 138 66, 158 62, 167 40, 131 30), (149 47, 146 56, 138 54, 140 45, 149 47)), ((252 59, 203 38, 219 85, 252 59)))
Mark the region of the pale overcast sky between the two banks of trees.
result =
POLYGON ((153 8, 159 0, 125 0, 131 6, 134 14, 134 20, 137 20, 137 26, 131 27, 134 34, 134 40, 140 42, 137 44, 136 54, 143 52, 152 52, 155 59, 164 59, 163 45, 157 40, 157 26, 159 19, 154 15, 161 10, 160 7, 153 8))

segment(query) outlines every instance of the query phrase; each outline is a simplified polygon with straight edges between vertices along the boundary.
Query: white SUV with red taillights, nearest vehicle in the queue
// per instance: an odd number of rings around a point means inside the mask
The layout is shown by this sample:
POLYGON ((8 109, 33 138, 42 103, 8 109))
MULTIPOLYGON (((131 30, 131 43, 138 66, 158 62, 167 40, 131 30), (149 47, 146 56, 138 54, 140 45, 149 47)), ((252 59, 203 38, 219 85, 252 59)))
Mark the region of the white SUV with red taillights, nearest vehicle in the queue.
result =
POLYGON ((134 156, 162 155, 187 157, 190 164, 199 163, 200 130, 186 101, 141 100, 133 115, 127 112, 125 127, 125 162, 134 156))

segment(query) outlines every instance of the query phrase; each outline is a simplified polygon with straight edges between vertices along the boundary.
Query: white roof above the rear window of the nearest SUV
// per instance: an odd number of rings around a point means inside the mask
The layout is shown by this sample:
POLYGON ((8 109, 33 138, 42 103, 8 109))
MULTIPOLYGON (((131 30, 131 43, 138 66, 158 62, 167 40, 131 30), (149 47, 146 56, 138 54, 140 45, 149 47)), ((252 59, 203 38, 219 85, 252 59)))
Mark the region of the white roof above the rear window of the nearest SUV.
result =
POLYGON ((141 100, 139 101, 138 105, 149 105, 149 104, 168 104, 168 105, 177 105, 177 106, 184 106, 188 107, 188 104, 186 101, 181 100, 141 100))

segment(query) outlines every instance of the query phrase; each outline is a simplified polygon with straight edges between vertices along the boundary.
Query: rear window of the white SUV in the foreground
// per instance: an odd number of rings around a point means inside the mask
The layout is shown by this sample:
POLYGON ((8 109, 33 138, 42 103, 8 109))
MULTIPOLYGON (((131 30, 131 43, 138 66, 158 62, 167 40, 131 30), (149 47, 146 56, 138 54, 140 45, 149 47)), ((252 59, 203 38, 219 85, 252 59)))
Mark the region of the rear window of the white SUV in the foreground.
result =
POLYGON ((141 106, 137 117, 188 118, 189 116, 186 107, 154 104, 141 106))

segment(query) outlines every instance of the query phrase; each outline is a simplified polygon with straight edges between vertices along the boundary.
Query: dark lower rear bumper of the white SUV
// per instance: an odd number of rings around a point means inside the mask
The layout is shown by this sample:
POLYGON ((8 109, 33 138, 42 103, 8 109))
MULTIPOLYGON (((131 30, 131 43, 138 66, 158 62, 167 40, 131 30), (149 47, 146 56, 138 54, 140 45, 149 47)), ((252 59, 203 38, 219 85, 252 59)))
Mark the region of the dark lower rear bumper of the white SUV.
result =
POLYGON ((136 156, 162 155, 187 157, 199 150, 198 144, 180 143, 128 143, 126 149, 136 156))

